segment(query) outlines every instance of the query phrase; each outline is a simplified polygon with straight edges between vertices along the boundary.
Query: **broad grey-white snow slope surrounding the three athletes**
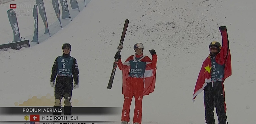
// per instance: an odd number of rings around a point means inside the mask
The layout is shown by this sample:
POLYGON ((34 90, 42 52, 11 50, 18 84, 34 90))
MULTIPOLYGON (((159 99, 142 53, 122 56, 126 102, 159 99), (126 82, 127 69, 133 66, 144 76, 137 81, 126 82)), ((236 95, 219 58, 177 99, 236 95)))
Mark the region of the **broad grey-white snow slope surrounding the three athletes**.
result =
MULTIPOLYGON (((0 6, 1 15, 7 15, 8 5, 0 6)), ((224 83, 228 122, 254 123, 255 5, 254 0, 92 0, 72 22, 46 41, 31 48, 0 52, 0 105, 14 106, 14 102, 27 100, 28 94, 53 95, 51 68, 54 59, 62 54, 62 44, 69 42, 71 56, 77 59, 80 71, 79 89, 73 90, 73 99, 79 99, 86 107, 122 107, 119 69, 112 89, 106 87, 124 21, 129 19, 121 52, 123 61, 134 54, 132 47, 136 42, 144 44, 145 55, 151 57, 150 49, 158 55, 156 87, 143 97, 142 124, 203 124, 203 93, 193 103, 194 86, 209 54, 209 43, 221 42, 218 27, 225 25, 232 59, 232 76, 224 83)), ((47 14, 47 18, 56 16, 47 14)), ((1 40, 12 38, 11 28, 5 28, 9 26, 7 19, 1 18, 1 40)), ((31 21, 19 19, 21 34, 32 34, 31 21)), ((133 110, 134 99, 131 122, 133 110)), ((216 114, 215 118, 218 122, 216 114)))

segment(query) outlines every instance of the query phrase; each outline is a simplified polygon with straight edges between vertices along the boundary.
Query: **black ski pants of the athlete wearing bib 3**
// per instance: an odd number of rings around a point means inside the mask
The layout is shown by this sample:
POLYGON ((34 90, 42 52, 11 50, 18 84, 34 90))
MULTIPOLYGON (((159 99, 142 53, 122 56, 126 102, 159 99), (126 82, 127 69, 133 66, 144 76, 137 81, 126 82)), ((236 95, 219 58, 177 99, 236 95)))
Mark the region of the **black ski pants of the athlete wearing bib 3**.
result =
POLYGON ((206 124, 215 124, 214 107, 219 124, 228 124, 223 81, 207 83, 204 88, 204 107, 206 124))

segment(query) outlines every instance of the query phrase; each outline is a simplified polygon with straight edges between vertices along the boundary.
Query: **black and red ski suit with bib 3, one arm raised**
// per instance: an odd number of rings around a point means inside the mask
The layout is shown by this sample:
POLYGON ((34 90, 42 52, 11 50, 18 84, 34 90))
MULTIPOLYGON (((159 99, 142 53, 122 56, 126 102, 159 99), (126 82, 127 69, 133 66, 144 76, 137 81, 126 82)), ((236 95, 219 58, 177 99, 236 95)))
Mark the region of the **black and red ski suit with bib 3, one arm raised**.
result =
MULTIPOLYGON (((220 28, 221 30, 221 28, 220 28)), ((231 58, 228 59, 229 41, 226 28, 222 32, 222 47, 217 55, 210 55, 211 58, 211 80, 204 88, 204 107, 206 124, 215 124, 214 107, 218 116, 219 124, 228 124, 226 115, 224 80, 231 75, 231 58), (225 71, 225 67, 230 68, 225 71)), ((230 56, 231 57, 231 56, 230 56)))

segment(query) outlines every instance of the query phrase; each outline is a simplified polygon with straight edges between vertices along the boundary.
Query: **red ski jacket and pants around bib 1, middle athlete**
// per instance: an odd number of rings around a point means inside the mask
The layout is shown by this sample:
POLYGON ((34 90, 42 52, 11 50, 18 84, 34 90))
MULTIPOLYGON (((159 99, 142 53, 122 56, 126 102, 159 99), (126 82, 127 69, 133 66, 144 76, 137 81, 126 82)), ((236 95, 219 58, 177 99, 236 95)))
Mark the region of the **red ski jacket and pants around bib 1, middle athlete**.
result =
MULTIPOLYGON (((122 63, 122 60, 119 59, 118 68, 122 71, 127 68, 129 69, 131 68, 130 60, 134 60, 134 57, 140 58, 142 56, 143 54, 140 56, 137 54, 135 56, 131 55, 125 60, 124 63, 122 63)), ((146 68, 151 68, 153 70, 156 70, 157 55, 156 54, 152 55, 152 59, 153 60, 151 60, 148 56, 144 56, 140 61, 146 62, 146 68)), ((156 71, 154 71, 154 73, 156 73, 156 71)), ((148 90, 150 88, 145 89, 146 86, 144 81, 145 81, 145 78, 128 77, 125 85, 123 84, 124 104, 123 104, 121 121, 127 121, 127 122, 130 121, 130 107, 131 107, 132 98, 134 96, 135 108, 134 108, 134 115, 133 115, 133 123, 138 122, 139 124, 141 124, 143 95, 148 95, 149 93, 153 92, 155 88, 155 84, 153 83, 153 86, 148 86, 148 87, 153 87, 151 88, 151 91, 148 90)), ((154 78, 154 81, 155 81, 155 78, 154 78)))

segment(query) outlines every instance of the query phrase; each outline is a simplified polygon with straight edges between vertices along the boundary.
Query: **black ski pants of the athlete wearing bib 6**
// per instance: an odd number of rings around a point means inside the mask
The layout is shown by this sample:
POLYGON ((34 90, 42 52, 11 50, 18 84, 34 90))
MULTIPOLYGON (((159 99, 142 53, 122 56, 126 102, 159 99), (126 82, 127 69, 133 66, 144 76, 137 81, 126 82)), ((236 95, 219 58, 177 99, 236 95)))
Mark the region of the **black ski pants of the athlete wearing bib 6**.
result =
MULTIPOLYGON (((57 76, 54 88, 54 108, 61 108, 61 100, 64 97, 64 114, 71 115, 71 97, 73 90, 72 77, 57 76)), ((61 114, 61 112, 54 112, 53 114, 61 114)))

